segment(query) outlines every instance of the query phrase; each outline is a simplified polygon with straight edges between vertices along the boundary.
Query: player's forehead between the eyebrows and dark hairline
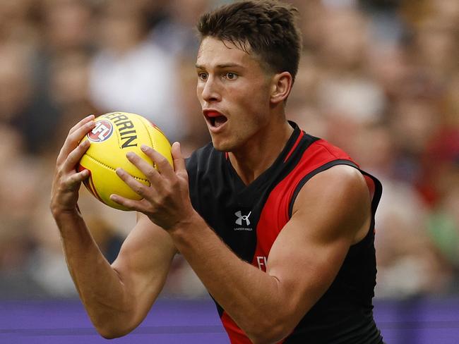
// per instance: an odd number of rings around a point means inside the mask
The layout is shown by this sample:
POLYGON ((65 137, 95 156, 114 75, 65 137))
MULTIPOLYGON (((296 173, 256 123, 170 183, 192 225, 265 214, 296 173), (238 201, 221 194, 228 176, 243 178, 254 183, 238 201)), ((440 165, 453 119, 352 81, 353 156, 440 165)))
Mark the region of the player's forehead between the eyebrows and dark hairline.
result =
POLYGON ((254 54, 243 51, 232 42, 222 41, 214 37, 203 39, 198 50, 196 64, 206 68, 229 64, 250 68, 259 65, 254 54))

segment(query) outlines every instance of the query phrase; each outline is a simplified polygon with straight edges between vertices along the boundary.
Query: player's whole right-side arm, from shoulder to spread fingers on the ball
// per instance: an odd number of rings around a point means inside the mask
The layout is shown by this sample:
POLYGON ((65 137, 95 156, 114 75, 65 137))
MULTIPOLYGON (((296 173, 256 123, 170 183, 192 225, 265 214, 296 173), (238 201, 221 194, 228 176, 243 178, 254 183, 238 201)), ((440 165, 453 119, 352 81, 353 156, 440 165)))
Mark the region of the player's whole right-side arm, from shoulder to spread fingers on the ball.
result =
MULTIPOLYGON (((181 179, 184 166, 177 161, 177 146, 173 152, 181 179)), ((155 153, 150 157, 161 160, 155 153)), ((143 168, 141 161, 133 162, 143 168)), ((165 164, 158 164, 167 169, 165 164)), ((174 180, 169 184, 173 176, 167 171, 162 173, 165 178, 152 177, 157 178, 157 189, 159 182, 166 185, 158 191, 160 197, 149 195, 149 190, 126 173, 119 173, 149 199, 148 205, 113 199, 127 207, 137 207, 150 214, 153 221, 162 223, 210 294, 254 343, 285 338, 333 282, 350 245, 362 239, 369 228, 369 192, 362 175, 350 166, 335 166, 318 173, 299 192, 292 219, 275 240, 265 273, 229 250, 184 200, 187 195, 183 185, 174 188, 183 183, 174 180), (174 192, 167 192, 169 188, 174 192), (171 216, 173 209, 181 213, 176 211, 176 216, 171 216)))

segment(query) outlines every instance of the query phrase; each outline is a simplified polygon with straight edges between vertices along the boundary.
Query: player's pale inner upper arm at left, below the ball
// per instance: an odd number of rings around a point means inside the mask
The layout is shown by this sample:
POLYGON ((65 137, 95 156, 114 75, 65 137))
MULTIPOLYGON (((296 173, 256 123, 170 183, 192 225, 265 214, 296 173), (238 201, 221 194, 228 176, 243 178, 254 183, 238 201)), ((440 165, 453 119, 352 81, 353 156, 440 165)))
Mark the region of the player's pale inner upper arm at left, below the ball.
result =
POLYGON ((112 264, 131 300, 136 322, 142 321, 162 290, 176 252, 169 234, 139 214, 112 264))

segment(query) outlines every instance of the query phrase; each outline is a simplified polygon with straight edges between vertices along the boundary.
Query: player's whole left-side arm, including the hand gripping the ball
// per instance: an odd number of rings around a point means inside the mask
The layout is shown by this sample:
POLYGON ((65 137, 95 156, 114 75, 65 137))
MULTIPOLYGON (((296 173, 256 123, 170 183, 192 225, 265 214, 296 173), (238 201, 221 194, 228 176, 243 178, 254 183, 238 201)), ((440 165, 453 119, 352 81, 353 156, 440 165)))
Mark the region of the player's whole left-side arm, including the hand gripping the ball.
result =
POLYGON ((113 338, 128 333, 143 320, 165 283, 176 249, 165 231, 140 215, 112 266, 103 257, 76 206, 81 181, 88 177, 75 171, 88 148, 88 143, 78 142, 92 128, 90 119, 70 130, 61 149, 51 210, 83 305, 97 331, 113 338))

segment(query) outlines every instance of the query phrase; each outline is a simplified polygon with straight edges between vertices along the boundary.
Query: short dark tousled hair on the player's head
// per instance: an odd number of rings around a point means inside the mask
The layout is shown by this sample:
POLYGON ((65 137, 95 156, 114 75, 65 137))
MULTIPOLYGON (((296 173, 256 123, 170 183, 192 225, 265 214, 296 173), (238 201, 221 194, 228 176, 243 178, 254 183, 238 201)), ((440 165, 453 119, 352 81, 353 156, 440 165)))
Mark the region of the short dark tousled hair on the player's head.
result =
POLYGON ((276 0, 245 0, 204 13, 197 28, 201 40, 215 37, 254 52, 270 72, 289 72, 294 80, 302 51, 298 10, 276 0))

